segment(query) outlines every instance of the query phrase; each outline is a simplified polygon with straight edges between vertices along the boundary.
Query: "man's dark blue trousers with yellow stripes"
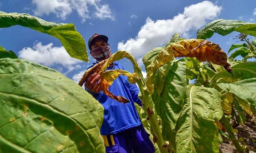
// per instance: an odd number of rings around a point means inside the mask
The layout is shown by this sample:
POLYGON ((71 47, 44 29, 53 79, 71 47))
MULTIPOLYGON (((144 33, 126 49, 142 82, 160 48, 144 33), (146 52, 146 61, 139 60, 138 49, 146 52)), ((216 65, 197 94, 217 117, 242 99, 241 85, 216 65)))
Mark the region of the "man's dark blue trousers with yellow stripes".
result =
POLYGON ((155 148, 143 125, 113 135, 103 135, 106 153, 154 153, 155 148))

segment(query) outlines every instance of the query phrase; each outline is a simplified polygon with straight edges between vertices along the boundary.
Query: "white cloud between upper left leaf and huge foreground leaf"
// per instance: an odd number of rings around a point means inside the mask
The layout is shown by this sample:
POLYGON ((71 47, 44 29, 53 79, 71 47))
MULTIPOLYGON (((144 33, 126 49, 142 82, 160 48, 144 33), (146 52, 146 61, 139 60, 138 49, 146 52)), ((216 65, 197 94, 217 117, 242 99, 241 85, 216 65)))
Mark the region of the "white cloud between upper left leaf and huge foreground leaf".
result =
MULTIPOLYGON (((42 45, 41 42, 35 42, 32 48, 25 47, 19 51, 18 54, 19 58, 24 58, 47 67, 51 67, 56 64, 62 65, 68 69, 65 74, 74 69, 80 69, 81 65, 78 65, 78 63, 82 63, 82 61, 72 58, 63 46, 53 47, 53 43, 42 45)), ((57 69, 60 71, 62 70, 58 67, 57 69)))

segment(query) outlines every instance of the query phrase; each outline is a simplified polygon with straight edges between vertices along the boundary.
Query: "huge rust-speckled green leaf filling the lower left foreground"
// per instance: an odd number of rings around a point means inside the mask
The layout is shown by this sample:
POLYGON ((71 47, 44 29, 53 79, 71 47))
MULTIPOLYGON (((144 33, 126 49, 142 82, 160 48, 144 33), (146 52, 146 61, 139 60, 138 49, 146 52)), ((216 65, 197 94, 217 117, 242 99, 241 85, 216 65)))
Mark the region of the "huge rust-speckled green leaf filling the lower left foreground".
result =
POLYGON ((103 107, 61 73, 0 59, 0 152, 105 152, 103 107))

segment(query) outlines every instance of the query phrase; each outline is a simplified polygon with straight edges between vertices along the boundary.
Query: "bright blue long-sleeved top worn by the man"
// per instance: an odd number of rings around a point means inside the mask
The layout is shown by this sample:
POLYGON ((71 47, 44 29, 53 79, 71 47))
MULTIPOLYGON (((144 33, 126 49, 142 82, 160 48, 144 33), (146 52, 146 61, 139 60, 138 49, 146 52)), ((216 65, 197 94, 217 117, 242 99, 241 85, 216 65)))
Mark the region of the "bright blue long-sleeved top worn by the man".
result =
MULTIPOLYGON (((95 65, 96 63, 93 64, 95 65)), ((108 67, 106 70, 110 69, 112 68, 108 67)), ((114 62, 113 69, 124 69, 124 67, 114 62)), ((119 75, 109 87, 109 90, 114 95, 120 95, 129 99, 130 102, 126 104, 109 98, 102 91, 99 94, 95 94, 90 92, 86 87, 85 90, 93 95, 104 107, 104 119, 100 129, 101 135, 116 134, 141 124, 140 117, 133 103, 136 102, 141 106, 141 101, 138 98, 139 88, 136 84, 130 84, 126 76, 119 75)))

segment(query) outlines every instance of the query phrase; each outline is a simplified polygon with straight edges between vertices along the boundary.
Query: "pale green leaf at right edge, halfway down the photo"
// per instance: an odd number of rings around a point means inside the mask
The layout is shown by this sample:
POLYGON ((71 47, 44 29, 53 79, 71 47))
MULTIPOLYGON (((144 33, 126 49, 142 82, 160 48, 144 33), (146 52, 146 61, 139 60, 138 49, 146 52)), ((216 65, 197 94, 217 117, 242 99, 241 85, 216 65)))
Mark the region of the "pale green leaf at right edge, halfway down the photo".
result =
POLYGON ((231 92, 239 98, 248 101, 251 107, 256 108, 256 78, 236 81, 234 83, 219 83, 221 89, 231 92))

